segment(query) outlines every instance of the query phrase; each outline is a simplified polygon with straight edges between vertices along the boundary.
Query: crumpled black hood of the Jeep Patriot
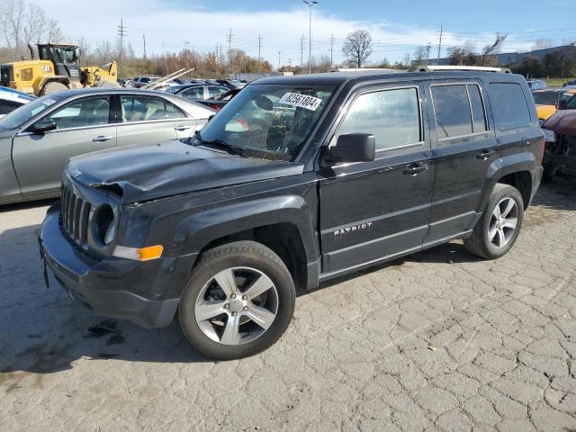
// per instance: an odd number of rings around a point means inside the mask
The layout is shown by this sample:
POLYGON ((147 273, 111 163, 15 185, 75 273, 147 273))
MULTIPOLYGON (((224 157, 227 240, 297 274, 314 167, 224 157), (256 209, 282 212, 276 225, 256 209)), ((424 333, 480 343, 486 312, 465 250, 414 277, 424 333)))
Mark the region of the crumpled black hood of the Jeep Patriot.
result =
POLYGON ((215 187, 302 174, 291 162, 229 155, 180 141, 104 150, 72 157, 67 173, 88 187, 117 194, 122 203, 144 202, 215 187))

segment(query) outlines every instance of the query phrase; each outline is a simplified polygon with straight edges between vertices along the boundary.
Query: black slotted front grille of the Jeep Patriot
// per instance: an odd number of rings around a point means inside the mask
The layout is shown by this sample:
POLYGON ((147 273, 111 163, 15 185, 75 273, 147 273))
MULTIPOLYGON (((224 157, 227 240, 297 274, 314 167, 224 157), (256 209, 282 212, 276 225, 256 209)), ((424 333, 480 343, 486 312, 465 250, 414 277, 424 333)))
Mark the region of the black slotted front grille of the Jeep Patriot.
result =
POLYGON ((92 206, 74 193, 71 188, 62 189, 62 229, 68 238, 81 247, 88 244, 88 220, 92 206))

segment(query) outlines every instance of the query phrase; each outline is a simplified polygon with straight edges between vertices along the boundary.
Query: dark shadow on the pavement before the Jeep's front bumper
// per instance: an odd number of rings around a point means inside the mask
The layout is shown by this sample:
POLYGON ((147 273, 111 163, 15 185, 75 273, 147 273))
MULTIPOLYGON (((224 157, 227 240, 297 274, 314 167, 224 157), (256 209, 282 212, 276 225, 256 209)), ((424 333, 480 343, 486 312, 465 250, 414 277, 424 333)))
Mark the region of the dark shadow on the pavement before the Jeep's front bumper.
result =
MULTIPOLYGON (((35 204, 17 208, 28 205, 35 204)), ((51 275, 47 289, 39 229, 34 224, 0 231, 0 386, 11 383, 13 373, 57 373, 80 358, 211 362, 187 343, 176 322, 164 329, 142 329, 73 302, 51 275)))

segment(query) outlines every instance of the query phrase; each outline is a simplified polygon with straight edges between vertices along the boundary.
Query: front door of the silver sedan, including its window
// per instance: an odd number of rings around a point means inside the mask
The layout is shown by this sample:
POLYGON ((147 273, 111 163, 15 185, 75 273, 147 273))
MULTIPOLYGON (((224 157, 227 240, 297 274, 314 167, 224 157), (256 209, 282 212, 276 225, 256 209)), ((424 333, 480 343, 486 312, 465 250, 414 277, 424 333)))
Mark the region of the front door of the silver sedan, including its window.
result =
POLYGON ((58 192, 69 157, 116 147, 110 107, 110 95, 76 99, 42 119, 55 121, 56 130, 33 133, 29 128, 14 137, 14 171, 23 196, 58 192))

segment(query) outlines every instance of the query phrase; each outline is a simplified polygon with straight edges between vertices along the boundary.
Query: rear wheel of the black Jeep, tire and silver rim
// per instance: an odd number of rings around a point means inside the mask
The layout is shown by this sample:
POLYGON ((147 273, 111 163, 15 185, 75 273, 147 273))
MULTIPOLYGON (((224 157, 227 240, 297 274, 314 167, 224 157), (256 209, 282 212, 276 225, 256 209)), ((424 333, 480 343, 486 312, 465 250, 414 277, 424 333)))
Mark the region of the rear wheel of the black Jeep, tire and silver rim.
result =
POLYGON ((472 236, 464 238, 464 246, 477 257, 503 257, 514 246, 523 220, 524 200, 518 189, 509 184, 496 184, 472 236), (513 205, 510 210, 509 205, 513 205), (497 214, 500 214, 500 219, 497 214))

